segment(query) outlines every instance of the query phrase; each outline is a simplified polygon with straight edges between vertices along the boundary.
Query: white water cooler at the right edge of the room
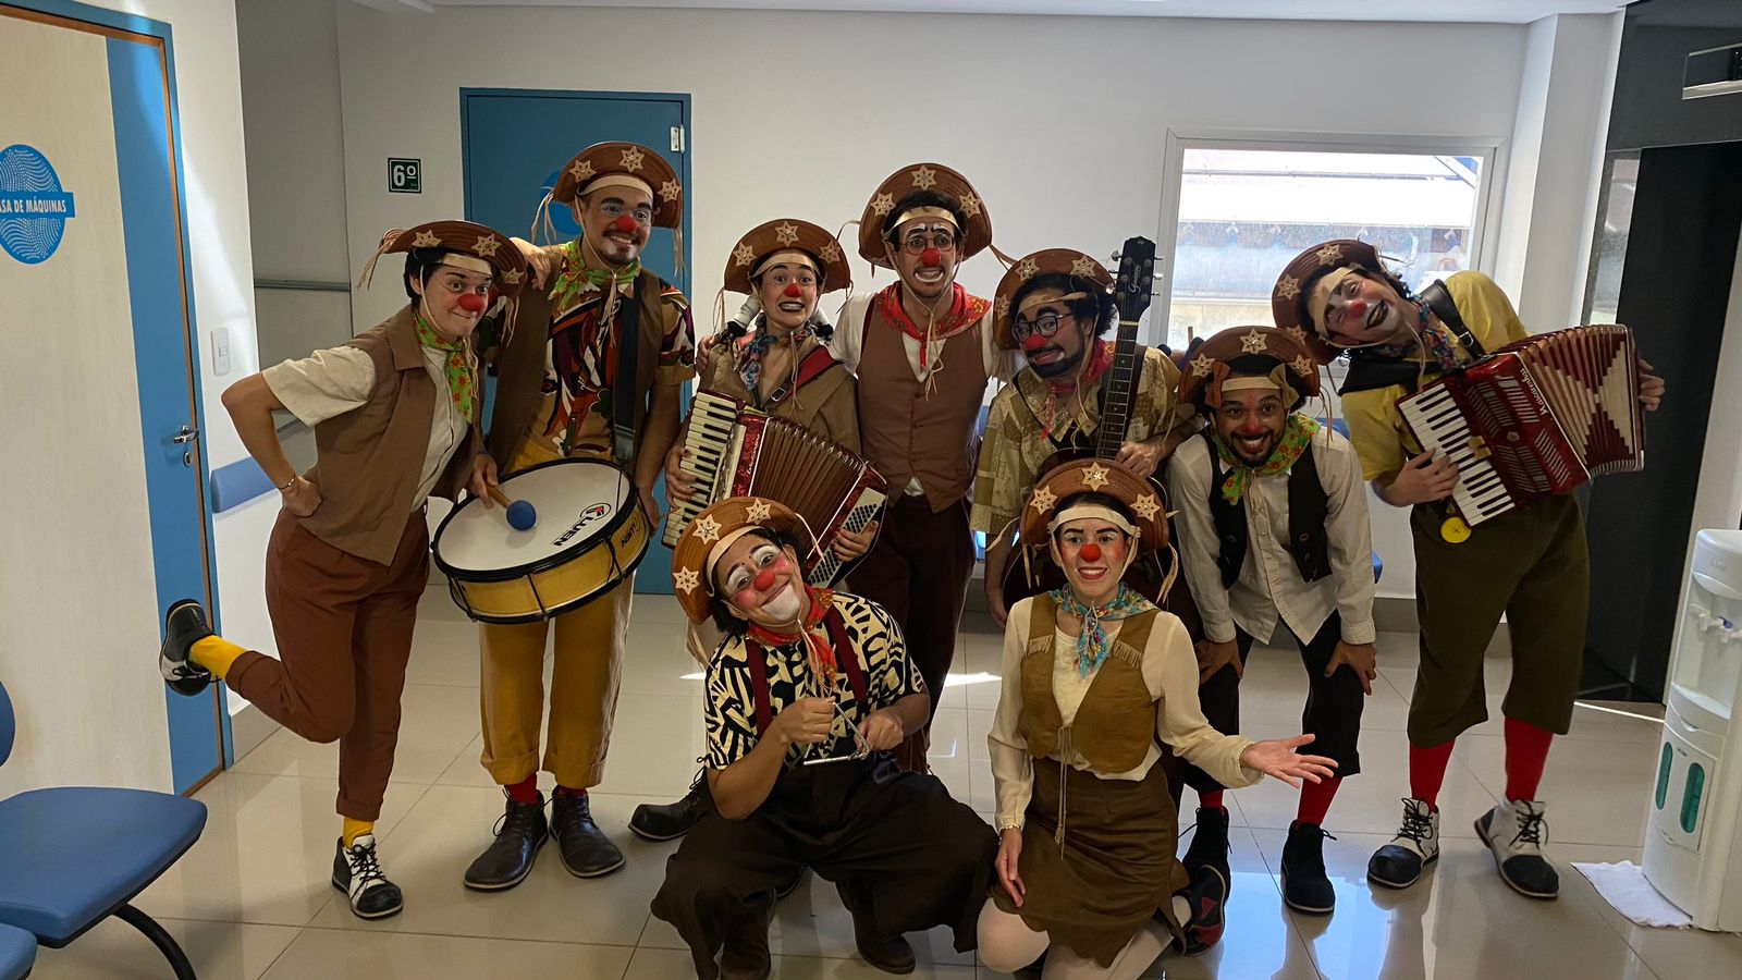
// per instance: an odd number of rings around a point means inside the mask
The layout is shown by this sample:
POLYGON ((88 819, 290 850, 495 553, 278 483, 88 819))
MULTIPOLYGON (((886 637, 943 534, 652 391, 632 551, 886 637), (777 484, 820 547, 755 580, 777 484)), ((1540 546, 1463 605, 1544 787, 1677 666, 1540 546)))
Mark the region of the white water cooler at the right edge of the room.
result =
POLYGON ((1644 875, 1702 929, 1742 931, 1742 530, 1702 530, 1676 624, 1644 875))

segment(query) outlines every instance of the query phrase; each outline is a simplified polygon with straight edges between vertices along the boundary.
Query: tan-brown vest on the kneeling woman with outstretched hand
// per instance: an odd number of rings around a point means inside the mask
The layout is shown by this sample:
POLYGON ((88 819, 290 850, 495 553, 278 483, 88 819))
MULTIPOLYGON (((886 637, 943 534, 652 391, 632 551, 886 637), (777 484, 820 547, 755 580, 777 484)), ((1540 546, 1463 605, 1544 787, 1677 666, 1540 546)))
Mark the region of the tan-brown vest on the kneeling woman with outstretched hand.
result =
POLYGON ((1028 649, 1023 652, 1023 738, 1028 739, 1028 752, 1042 759, 1075 750, 1096 772, 1136 769, 1155 743, 1155 698, 1143 682, 1143 649, 1150 642, 1155 612, 1120 623, 1113 650, 1089 684, 1089 694, 1070 725, 1052 696, 1057 624, 1059 610, 1052 596, 1035 596, 1028 649))

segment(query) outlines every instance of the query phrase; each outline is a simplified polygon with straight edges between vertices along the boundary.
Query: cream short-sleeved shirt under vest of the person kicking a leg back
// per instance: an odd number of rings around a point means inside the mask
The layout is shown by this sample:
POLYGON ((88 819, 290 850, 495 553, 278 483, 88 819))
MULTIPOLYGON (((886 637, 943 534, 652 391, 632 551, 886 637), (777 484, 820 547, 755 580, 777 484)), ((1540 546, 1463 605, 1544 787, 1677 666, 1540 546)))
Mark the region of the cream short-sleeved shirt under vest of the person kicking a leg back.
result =
MULTIPOLYGON (((436 384, 436 412, 430 412, 430 441, 423 450, 423 476, 418 480, 418 492, 411 497, 411 509, 416 511, 436 488, 436 480, 448 469, 448 460, 465 439, 470 420, 460 415, 453 396, 448 394, 448 352, 423 347, 423 368, 429 370, 430 382, 436 384)), ((327 347, 298 359, 273 364, 260 373, 272 394, 296 415, 296 419, 314 429, 321 422, 343 415, 369 403, 375 391, 375 361, 361 347, 327 347)), ((483 394, 479 385, 477 394, 483 394)))

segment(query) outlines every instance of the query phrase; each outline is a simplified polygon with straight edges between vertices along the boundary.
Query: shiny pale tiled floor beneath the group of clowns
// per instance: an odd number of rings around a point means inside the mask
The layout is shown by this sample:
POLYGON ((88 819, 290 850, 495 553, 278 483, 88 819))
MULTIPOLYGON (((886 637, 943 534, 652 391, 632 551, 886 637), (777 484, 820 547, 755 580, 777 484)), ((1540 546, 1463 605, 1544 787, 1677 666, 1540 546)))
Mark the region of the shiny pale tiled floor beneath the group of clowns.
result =
MULTIPOLYGON (((972 624, 972 617, 970 617, 972 624)), ((984 626, 984 621, 979 621, 984 626)), ((477 633, 432 591, 423 603, 406 685, 399 764, 380 821, 381 854, 406 889, 402 915, 362 922, 329 884, 336 750, 287 732, 268 738, 199 797, 206 835, 139 905, 160 917, 204 980, 232 978, 470 978, 690 977, 676 933, 652 919, 672 844, 646 844, 624 823, 641 800, 674 799, 700 748, 700 682, 681 650, 669 598, 639 596, 624 666, 611 764, 594 793, 599 823, 624 847, 625 870, 578 881, 549 851, 531 877, 503 895, 460 886, 488 842, 502 797, 477 766, 477 633)), ((969 631, 958 680, 942 698, 932 764, 949 790, 982 814, 993 807, 986 731, 998 703, 998 636, 969 631)), ((1221 978, 1735 978, 1742 936, 1643 929, 1617 915, 1568 867, 1573 860, 1639 860, 1657 724, 1577 710, 1556 739, 1542 795, 1550 802, 1550 854, 1561 863, 1559 902, 1509 891, 1475 839, 1474 818, 1503 788, 1500 696, 1510 664, 1488 664, 1493 718, 1458 741, 1441 795, 1444 856, 1416 888, 1367 886, 1367 856, 1395 828, 1406 795, 1404 718, 1415 684, 1415 638, 1381 636, 1367 701, 1362 774, 1331 809, 1326 863, 1338 910, 1326 919, 1282 907, 1277 867, 1294 793, 1280 783, 1230 793, 1233 895, 1225 942, 1202 959, 1167 957, 1157 977, 1221 978)), ((1242 685, 1244 727, 1293 734, 1303 696, 1293 650, 1258 650, 1242 685)), ((1188 799, 1190 806, 1190 799, 1188 799)), ((1186 813, 1190 823, 1190 811, 1186 813)), ((834 889, 812 884, 782 902, 770 931, 775 977, 881 977, 854 956, 852 924, 834 889)), ((948 933, 913 936, 916 977, 1002 977, 956 954, 948 933)), ((106 922, 66 950, 42 950, 37 973, 54 978, 165 977, 164 963, 125 924, 106 922)))

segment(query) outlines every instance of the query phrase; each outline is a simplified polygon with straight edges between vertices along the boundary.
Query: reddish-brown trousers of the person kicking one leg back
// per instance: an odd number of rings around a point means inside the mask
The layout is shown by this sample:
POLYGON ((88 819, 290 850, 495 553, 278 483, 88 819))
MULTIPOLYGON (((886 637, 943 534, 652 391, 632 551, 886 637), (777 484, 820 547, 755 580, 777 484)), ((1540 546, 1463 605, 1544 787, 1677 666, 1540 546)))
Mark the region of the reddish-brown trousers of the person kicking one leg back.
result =
POLYGON ((225 684, 310 741, 338 741, 338 813, 381 816, 399 745, 399 696, 418 598, 430 575, 423 509, 406 518, 392 565, 307 532, 289 511, 267 544, 267 614, 279 659, 237 657, 225 684))

